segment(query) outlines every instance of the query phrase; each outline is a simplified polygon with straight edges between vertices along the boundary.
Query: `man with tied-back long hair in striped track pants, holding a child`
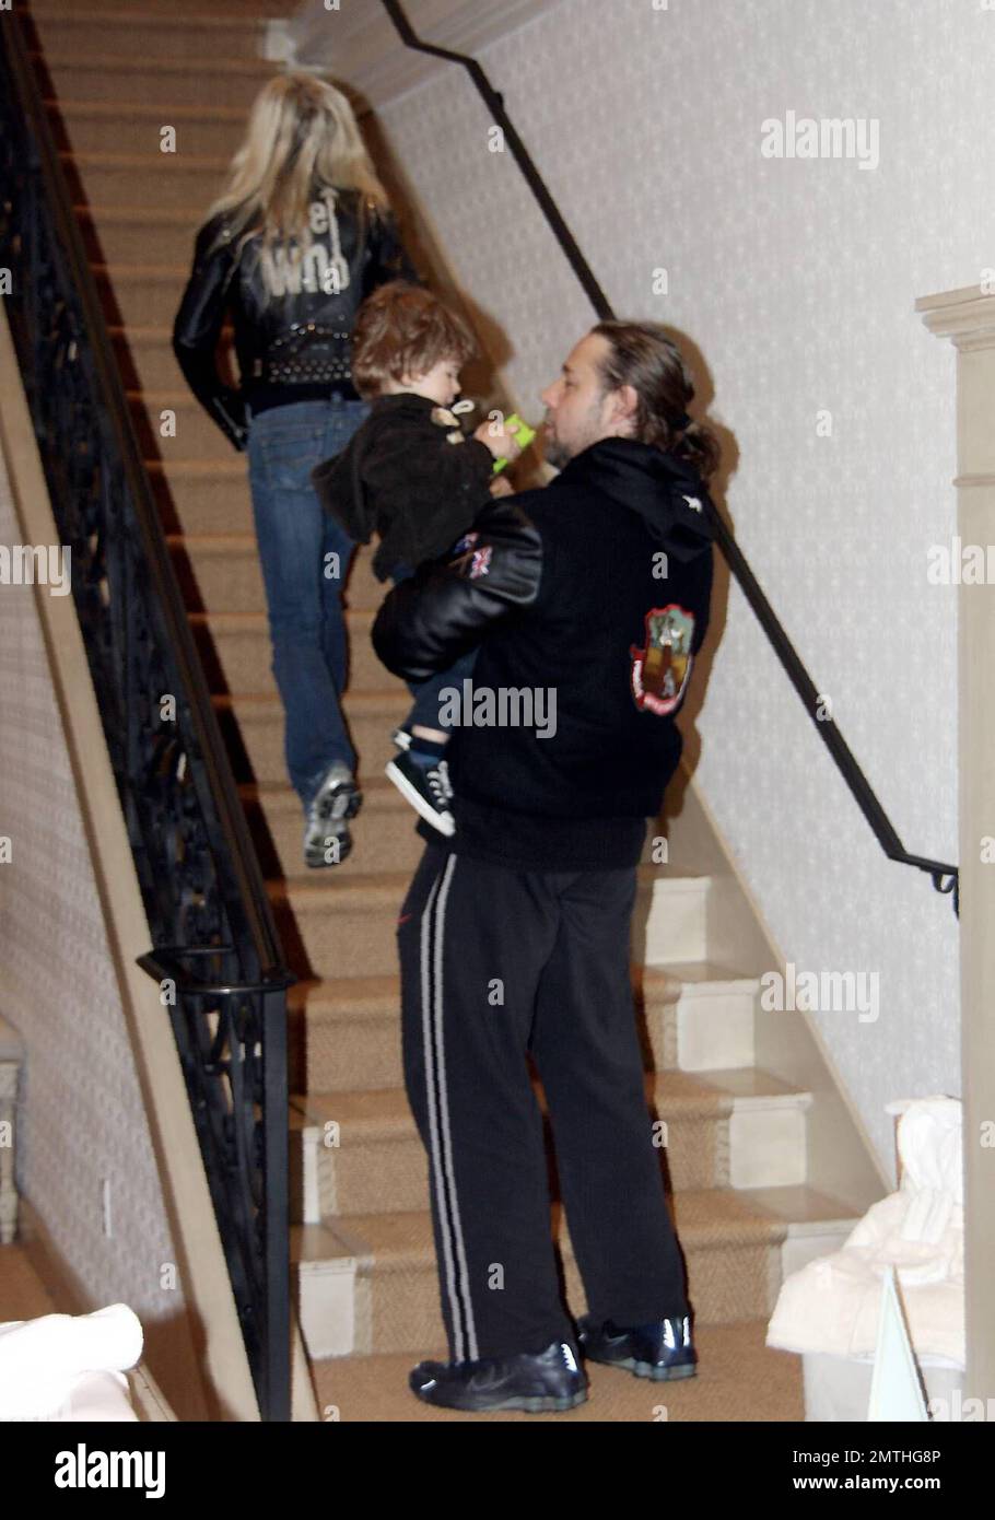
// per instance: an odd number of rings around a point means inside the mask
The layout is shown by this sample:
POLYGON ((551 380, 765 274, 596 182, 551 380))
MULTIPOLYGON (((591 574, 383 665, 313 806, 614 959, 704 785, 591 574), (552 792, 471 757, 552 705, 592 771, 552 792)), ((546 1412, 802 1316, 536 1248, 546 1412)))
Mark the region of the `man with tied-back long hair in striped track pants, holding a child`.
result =
POLYGON ((415 681, 480 644, 450 742, 456 831, 419 825, 398 924, 451 1353, 412 1373, 427 1403, 570 1409, 586 1398, 582 1356, 694 1374, 629 980, 636 865, 709 614, 717 445, 687 415, 693 395, 661 327, 600 322, 542 394, 561 474, 486 506, 465 552, 396 587, 374 628, 415 681), (577 1333, 529 1053, 586 1290, 577 1333))

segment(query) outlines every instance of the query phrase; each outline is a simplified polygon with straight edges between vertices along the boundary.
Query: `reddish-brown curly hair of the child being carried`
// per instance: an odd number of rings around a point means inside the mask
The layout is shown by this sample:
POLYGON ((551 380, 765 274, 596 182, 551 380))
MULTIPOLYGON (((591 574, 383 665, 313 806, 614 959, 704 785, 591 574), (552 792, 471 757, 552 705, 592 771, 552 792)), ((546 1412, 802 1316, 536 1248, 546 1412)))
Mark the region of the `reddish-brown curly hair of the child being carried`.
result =
POLYGON ((465 365, 477 353, 466 322, 431 290, 392 280, 363 301, 352 330, 352 383, 380 395, 389 380, 425 374, 441 360, 465 365))

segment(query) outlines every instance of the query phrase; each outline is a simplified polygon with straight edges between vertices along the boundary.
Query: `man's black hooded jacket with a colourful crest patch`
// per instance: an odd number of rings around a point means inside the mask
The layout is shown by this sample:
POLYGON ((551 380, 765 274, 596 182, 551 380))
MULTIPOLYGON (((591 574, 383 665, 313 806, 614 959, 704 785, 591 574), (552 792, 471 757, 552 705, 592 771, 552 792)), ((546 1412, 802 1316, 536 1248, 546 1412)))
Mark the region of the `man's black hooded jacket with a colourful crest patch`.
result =
POLYGON ((396 587, 374 628, 384 664, 412 678, 480 644, 448 714, 450 847, 524 869, 633 865, 708 628, 700 476, 608 438, 545 489, 486 508, 469 540, 396 587))

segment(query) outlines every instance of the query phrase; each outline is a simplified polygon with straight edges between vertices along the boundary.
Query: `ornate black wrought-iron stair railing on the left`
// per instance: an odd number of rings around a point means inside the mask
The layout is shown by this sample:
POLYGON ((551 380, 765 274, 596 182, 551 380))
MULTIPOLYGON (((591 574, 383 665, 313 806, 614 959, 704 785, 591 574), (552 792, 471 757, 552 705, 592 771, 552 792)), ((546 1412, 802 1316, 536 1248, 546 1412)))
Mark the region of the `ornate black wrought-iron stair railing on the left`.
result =
POLYGON ((290 1418, 287 1008, 266 894, 17 14, 0 21, 0 264, 264 1420, 290 1418), (188 959, 207 959, 197 980, 188 959))

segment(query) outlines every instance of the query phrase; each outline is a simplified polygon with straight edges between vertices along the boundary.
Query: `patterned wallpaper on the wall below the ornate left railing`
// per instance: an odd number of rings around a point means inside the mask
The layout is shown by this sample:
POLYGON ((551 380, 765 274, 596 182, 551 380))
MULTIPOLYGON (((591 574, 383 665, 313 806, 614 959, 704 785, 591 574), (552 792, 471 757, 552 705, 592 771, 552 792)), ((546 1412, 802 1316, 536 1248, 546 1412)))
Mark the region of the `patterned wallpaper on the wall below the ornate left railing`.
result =
MULTIPOLYGON (((20 543, 0 454, 0 544, 20 543)), ((160 1287, 176 1252, 29 585, 0 585, 0 1015, 27 1047, 18 1190, 94 1307, 131 1304, 147 1330, 179 1318, 182 1286, 160 1287)))

